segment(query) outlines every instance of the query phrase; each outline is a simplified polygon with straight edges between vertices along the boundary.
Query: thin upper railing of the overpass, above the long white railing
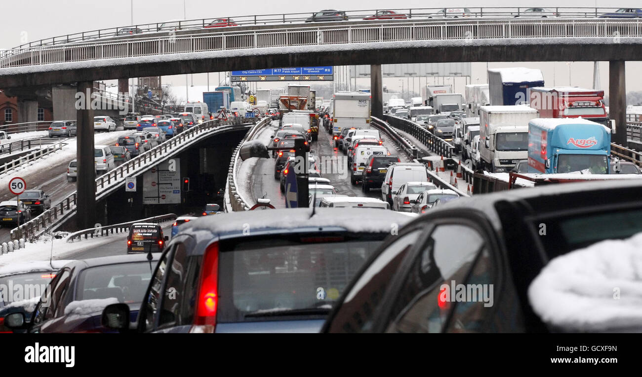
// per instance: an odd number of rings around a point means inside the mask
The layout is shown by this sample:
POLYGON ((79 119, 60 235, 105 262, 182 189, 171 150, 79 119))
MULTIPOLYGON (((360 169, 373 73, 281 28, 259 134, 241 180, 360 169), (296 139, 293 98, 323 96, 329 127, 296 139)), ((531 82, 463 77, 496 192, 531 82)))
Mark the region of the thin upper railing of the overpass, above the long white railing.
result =
MULTIPOLYGON (((464 7, 460 7, 464 8, 464 7)), ((457 18, 458 15, 446 15, 445 13, 438 13, 444 8, 399 8, 399 9, 386 9, 392 10, 395 13, 401 13, 401 17, 404 19, 427 19, 432 18, 457 18)), ((525 12, 528 7, 516 8, 516 7, 483 7, 483 8, 464 8, 465 14, 464 18, 474 18, 474 19, 483 19, 483 18, 505 18, 513 19, 519 17, 551 17, 551 18, 587 18, 587 17, 599 17, 603 13, 612 12, 614 8, 597 8, 597 7, 555 7, 548 8, 550 12, 542 13, 541 15, 536 15, 533 13, 525 12)), ((362 20, 368 17, 372 17, 375 13, 379 12, 378 9, 370 10, 351 10, 345 11, 346 20, 362 20)), ((27 47, 35 46, 56 46, 59 44, 69 44, 73 42, 83 42, 91 41, 99 38, 110 38, 110 37, 119 37, 127 35, 139 35, 139 33, 154 33, 154 32, 176 32, 179 30, 190 30, 190 29, 203 29, 216 19, 232 19, 229 22, 230 26, 251 26, 251 25, 265 25, 265 24, 292 24, 299 22, 306 22, 307 19, 311 16, 311 13, 274 13, 274 14, 265 14, 265 15, 241 15, 241 16, 229 16, 229 17, 211 17, 205 19, 192 19, 192 20, 182 20, 182 21, 166 21, 166 22, 152 22, 148 24, 135 24, 127 26, 118 26, 116 28, 106 28, 106 29, 95 29, 90 31, 83 31, 81 33, 73 33, 66 35, 58 35, 56 37, 44 38, 40 40, 35 40, 27 44, 22 44, 20 46, 14 47, 15 49, 24 49, 27 47), (127 29, 130 29, 133 34, 130 34, 127 29)), ((397 15, 399 17, 399 15, 397 15)), ((391 17, 392 18, 392 17, 391 17)), ((399 18, 397 18, 399 19, 399 18)), ((341 20, 338 20, 341 21, 341 20)), ((220 24, 225 26, 225 23, 220 24)))

